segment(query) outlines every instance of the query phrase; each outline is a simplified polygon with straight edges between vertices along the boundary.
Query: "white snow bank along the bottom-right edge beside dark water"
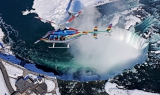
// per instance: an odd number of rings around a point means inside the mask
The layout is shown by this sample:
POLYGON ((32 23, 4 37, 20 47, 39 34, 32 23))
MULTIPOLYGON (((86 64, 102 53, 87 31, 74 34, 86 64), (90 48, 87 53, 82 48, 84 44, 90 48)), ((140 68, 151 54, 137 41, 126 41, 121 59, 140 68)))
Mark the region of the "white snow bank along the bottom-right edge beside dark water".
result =
POLYGON ((123 90, 118 89, 117 84, 107 82, 105 84, 105 90, 109 95, 159 95, 156 93, 149 93, 140 90, 123 90))

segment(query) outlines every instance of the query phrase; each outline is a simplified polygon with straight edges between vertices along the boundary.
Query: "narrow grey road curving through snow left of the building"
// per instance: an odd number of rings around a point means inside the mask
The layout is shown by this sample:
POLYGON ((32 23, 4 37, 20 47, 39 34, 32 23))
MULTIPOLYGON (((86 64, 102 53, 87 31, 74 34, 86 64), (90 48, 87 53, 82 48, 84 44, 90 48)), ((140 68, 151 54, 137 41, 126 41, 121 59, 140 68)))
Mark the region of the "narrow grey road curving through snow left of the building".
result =
POLYGON ((8 73, 7 73, 6 68, 4 67, 2 62, 0 62, 0 69, 2 71, 6 86, 9 90, 9 92, 12 94, 14 92, 14 89, 12 88, 12 85, 11 85, 10 80, 9 80, 8 73))

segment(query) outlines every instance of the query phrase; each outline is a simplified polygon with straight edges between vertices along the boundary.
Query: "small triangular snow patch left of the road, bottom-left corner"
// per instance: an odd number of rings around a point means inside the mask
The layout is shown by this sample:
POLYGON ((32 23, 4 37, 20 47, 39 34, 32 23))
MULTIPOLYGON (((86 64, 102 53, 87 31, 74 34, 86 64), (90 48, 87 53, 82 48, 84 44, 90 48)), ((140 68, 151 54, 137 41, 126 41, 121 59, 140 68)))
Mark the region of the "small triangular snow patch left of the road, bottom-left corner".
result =
POLYGON ((3 75, 2 75, 2 71, 0 70, 0 95, 10 95, 8 88, 6 87, 3 75))

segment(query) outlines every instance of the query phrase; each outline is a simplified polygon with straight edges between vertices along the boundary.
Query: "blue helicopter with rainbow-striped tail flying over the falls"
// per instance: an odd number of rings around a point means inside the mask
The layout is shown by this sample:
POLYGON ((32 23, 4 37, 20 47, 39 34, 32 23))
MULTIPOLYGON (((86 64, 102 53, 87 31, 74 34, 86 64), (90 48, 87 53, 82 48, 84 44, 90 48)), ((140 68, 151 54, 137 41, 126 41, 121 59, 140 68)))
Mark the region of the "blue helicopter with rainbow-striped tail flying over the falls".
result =
POLYGON ((73 41, 73 40, 78 39, 82 35, 92 34, 93 37, 95 39, 97 39, 97 34, 98 33, 106 32, 107 35, 111 36, 112 24, 109 24, 107 30, 103 30, 103 31, 99 31, 97 26, 94 27, 93 31, 81 31, 81 30, 78 30, 76 28, 71 28, 71 27, 66 27, 65 26, 65 24, 70 23, 71 21, 73 21, 73 19, 75 19, 80 14, 81 14, 81 11, 79 11, 77 14, 73 15, 64 24, 56 24, 56 23, 54 23, 52 21, 45 20, 45 19, 40 18, 40 17, 35 17, 37 19, 44 20, 44 21, 46 21, 48 23, 57 25, 58 29, 57 30, 48 31, 42 38, 37 40, 34 44, 37 44, 40 41, 44 41, 46 43, 52 43, 53 44, 52 47, 49 47, 49 48, 69 48, 70 47, 69 43, 71 41, 73 41), (56 43, 65 43, 65 44, 67 44, 67 46, 66 47, 55 47, 56 43))

